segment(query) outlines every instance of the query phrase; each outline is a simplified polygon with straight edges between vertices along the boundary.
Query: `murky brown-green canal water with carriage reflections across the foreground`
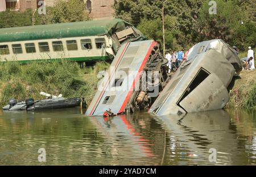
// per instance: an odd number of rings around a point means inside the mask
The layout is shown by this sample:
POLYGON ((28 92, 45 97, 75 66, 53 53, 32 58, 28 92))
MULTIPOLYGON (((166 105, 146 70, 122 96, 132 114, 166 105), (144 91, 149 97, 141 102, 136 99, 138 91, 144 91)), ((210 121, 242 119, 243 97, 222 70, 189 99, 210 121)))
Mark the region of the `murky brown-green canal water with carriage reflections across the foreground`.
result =
POLYGON ((0 165, 255 164, 255 109, 110 119, 79 109, 0 111, 0 165))

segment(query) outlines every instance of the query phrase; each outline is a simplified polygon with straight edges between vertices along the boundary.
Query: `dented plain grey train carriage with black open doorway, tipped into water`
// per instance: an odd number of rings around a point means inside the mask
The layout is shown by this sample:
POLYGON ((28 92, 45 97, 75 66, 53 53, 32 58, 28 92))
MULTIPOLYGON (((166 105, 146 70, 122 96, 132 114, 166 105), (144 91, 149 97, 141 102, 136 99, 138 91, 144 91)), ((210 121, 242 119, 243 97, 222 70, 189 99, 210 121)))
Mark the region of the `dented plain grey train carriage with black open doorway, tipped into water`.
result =
POLYGON ((150 108, 156 115, 221 109, 229 101, 228 86, 242 70, 240 59, 222 40, 194 45, 150 108))

